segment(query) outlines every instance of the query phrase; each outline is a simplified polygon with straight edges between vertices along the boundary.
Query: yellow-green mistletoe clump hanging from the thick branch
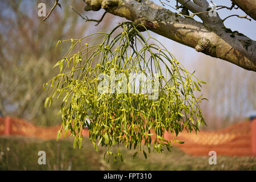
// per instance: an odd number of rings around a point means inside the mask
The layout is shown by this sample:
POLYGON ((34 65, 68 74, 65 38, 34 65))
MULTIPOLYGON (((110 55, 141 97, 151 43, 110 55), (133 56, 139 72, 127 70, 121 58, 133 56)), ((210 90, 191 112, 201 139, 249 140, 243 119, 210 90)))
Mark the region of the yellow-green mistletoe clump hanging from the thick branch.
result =
POLYGON ((55 65, 60 68, 60 74, 46 84, 51 85, 52 93, 45 102, 45 106, 51 106, 57 93, 58 99, 64 97, 60 109, 62 125, 57 138, 70 131, 75 137, 74 147, 81 148, 82 131, 88 127, 89 139, 96 151, 99 145, 106 146, 105 155, 114 156, 114 159, 120 156, 123 160, 122 154, 119 151, 115 154, 112 149, 124 143, 129 150, 137 150, 134 156, 143 152, 147 158, 145 148, 148 152, 162 152, 164 147, 170 151, 175 137, 168 141, 164 133, 175 136, 184 129, 197 131, 204 124, 199 107, 203 98, 193 94, 195 90, 200 91, 199 86, 204 82, 189 73, 147 31, 145 38, 139 31, 142 26, 139 27, 125 22, 109 34, 96 33, 59 42, 71 42, 71 48, 55 65), (100 40, 103 41, 97 44, 100 40), (107 86, 104 92, 99 92, 102 73, 110 77, 113 73, 121 73, 127 79, 130 73, 144 74, 147 82, 154 78, 152 85, 159 82, 158 88, 153 89, 158 97, 149 99, 152 88, 142 92, 141 81, 139 86, 137 83, 124 87, 118 84, 121 81, 118 78, 114 82, 105 80, 107 86), (113 84, 133 92, 111 92, 113 84))

